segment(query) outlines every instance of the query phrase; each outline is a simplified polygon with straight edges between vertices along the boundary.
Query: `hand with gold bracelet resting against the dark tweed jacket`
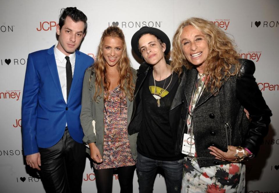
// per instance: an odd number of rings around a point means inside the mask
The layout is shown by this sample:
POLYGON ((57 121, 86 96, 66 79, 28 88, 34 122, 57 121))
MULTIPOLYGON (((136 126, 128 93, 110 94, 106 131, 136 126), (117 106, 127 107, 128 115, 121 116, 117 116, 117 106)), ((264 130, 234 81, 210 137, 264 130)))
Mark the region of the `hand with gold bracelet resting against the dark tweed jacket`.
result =
POLYGON ((222 161, 229 161, 229 162, 240 162, 237 159, 237 156, 239 156, 240 158, 242 158, 243 156, 248 157, 249 154, 248 152, 244 149, 244 153, 242 153, 241 151, 239 151, 237 153, 237 147, 235 146, 228 146, 228 151, 224 152, 220 149, 218 149, 217 147, 214 146, 210 146, 208 147, 208 149, 210 150, 210 154, 215 156, 215 158, 217 160, 222 160, 222 161))

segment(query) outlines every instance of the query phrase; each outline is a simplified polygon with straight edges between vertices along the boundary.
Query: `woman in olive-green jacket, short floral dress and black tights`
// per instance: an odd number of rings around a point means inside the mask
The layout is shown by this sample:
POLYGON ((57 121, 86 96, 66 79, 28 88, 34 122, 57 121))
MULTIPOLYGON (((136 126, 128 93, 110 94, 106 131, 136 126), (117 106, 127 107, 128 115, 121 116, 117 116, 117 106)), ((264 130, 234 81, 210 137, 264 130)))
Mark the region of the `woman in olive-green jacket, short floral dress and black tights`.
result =
POLYGON ((137 134, 128 135, 127 127, 135 80, 124 34, 110 26, 103 32, 94 66, 85 72, 80 116, 98 193, 112 192, 114 169, 121 192, 133 192, 137 134))

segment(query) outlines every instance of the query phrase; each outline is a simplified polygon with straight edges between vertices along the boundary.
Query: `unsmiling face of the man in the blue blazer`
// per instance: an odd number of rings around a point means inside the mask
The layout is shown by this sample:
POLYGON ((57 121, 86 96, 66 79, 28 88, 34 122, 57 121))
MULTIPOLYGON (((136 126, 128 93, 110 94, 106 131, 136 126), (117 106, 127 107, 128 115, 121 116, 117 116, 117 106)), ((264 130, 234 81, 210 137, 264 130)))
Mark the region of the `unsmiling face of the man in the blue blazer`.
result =
POLYGON ((74 22, 71 17, 66 17, 65 23, 60 29, 56 26, 56 33, 59 35, 57 48, 66 56, 75 52, 80 46, 81 40, 84 37, 84 22, 74 22))

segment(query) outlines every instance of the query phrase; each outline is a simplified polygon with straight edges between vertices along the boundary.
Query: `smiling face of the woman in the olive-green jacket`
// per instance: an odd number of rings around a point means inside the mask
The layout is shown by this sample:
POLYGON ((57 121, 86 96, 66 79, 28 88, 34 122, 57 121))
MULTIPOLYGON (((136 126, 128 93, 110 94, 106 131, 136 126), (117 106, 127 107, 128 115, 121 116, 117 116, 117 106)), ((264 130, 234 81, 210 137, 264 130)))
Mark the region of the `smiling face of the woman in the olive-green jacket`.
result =
POLYGON ((118 64, 123 52, 123 42, 118 37, 107 36, 104 38, 103 56, 106 65, 113 67, 118 64))

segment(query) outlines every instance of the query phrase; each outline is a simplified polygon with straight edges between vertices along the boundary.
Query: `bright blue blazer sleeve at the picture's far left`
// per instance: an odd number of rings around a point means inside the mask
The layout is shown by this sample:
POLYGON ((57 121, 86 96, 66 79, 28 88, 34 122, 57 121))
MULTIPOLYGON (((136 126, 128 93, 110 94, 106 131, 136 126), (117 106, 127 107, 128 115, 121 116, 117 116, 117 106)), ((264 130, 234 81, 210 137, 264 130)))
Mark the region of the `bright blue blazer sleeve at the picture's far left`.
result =
POLYGON ((22 144, 24 155, 39 152, 37 129, 37 104, 40 77, 35 70, 31 54, 28 55, 22 94, 22 144))

